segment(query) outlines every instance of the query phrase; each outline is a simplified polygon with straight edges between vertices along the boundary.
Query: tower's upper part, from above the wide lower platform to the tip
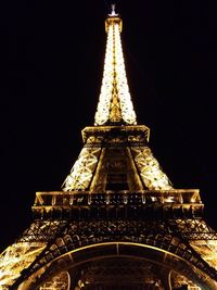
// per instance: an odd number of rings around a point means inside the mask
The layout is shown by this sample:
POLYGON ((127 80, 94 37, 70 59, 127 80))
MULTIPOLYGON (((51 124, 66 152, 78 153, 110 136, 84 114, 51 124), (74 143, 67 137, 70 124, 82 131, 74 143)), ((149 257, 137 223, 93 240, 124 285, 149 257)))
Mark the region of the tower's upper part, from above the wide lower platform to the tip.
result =
POLYGON ((105 31, 104 71, 94 126, 82 130, 85 147, 63 190, 102 191, 112 189, 113 184, 123 190, 171 189, 148 147, 149 128, 137 125, 122 49, 122 20, 114 4, 105 20, 105 31), (105 147, 106 143, 122 147, 105 147))

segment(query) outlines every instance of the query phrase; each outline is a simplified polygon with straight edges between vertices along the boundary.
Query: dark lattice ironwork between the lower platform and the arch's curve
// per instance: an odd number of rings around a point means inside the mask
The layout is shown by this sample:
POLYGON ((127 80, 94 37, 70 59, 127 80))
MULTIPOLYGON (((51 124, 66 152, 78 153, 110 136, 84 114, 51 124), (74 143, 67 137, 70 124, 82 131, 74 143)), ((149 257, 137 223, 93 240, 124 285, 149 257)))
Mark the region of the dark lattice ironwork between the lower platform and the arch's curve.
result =
POLYGON ((91 223, 68 223, 63 234, 56 237, 50 245, 43 250, 28 269, 25 270, 21 279, 27 279, 27 277, 44 265, 71 251, 90 244, 112 241, 135 242, 162 249, 189 261, 213 279, 217 279, 216 270, 196 254, 188 241, 179 237, 180 232, 176 232, 168 223, 163 220, 91 220, 91 223))

